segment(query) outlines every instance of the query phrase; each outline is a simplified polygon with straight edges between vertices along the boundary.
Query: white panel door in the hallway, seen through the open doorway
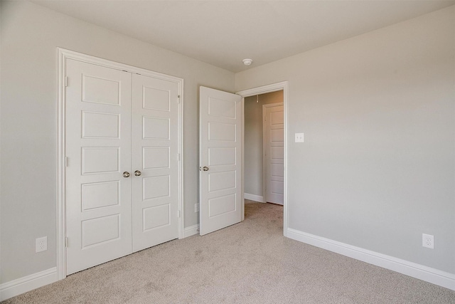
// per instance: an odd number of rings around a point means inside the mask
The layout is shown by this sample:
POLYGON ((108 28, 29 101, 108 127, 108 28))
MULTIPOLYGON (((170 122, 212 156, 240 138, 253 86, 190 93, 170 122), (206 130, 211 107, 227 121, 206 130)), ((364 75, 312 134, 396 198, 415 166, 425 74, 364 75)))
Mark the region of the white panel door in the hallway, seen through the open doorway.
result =
POLYGON ((284 201, 284 107, 263 105, 265 201, 284 201))

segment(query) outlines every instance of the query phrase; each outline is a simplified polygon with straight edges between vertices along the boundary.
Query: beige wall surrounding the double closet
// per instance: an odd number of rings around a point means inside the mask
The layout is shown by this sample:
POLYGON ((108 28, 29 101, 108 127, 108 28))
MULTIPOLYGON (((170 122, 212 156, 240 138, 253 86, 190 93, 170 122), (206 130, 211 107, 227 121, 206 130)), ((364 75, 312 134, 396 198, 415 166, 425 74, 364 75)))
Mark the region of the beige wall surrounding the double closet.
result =
POLYGON ((24 1, 1 2, 1 281, 56 265, 57 47, 184 79, 185 226, 198 223, 198 88, 234 74, 24 1), (48 251, 35 239, 48 236, 48 251))

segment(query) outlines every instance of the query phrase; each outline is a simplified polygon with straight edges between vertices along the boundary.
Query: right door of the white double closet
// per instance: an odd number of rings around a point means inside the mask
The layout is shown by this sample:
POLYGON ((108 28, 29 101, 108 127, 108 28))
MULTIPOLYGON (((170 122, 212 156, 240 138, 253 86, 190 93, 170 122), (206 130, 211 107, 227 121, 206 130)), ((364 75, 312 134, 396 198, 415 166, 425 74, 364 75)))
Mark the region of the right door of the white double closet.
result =
POLYGON ((178 238, 178 83, 133 75, 133 251, 178 238))

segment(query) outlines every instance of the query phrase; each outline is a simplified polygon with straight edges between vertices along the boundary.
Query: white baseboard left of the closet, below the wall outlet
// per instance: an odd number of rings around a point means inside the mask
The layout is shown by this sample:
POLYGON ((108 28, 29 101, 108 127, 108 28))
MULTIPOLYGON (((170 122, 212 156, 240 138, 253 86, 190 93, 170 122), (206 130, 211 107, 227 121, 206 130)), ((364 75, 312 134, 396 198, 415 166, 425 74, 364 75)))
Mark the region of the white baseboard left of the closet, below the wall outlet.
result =
POLYGON ((24 276, 0 285, 0 301, 58 281, 57 267, 24 276))

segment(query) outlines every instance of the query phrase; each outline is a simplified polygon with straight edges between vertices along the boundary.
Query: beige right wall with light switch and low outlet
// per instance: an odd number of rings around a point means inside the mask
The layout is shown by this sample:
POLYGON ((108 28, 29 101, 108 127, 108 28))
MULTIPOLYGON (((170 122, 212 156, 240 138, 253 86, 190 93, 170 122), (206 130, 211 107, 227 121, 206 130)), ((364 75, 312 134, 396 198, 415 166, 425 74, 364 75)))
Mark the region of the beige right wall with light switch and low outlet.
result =
POLYGON ((455 6, 237 73, 235 89, 283 80, 289 227, 455 273, 455 6))

